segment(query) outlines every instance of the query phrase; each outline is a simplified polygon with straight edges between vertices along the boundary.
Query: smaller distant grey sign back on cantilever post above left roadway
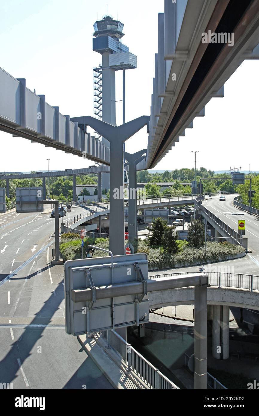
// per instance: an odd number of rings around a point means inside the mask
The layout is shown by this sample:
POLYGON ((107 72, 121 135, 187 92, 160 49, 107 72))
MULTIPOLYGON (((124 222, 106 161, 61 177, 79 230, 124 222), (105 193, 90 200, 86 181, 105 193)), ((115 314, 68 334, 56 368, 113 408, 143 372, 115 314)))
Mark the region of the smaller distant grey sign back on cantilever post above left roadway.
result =
POLYGON ((16 212, 43 212, 43 188, 42 186, 16 188, 16 212))

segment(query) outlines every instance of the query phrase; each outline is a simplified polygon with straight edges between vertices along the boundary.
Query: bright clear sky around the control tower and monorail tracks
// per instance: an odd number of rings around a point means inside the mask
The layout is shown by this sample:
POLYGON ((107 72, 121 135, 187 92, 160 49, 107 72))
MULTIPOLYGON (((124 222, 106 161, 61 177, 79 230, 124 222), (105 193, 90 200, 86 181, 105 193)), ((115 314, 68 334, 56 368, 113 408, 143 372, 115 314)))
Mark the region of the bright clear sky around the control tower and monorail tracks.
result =
MULTIPOLYGON (((1 0, 0 67, 71 117, 94 115, 93 68, 101 55, 92 50, 94 22, 106 14, 108 0, 1 0)), ((126 71, 126 121, 150 114, 154 54, 158 47, 158 12, 163 0, 109 0, 108 14, 124 24, 123 43, 138 56, 137 69, 126 71)), ((245 61, 225 84, 225 97, 205 107, 205 117, 155 169, 194 166, 212 170, 242 166, 259 170, 259 62, 245 61)), ((116 98, 122 98, 122 72, 116 72, 116 98)), ((122 103, 116 107, 122 124, 122 103)), ((90 130, 89 130, 90 131, 90 130)), ((147 145, 146 128, 126 142, 126 151, 147 145)), ((0 171, 84 168, 93 161, 56 151, 0 131, 0 171)))

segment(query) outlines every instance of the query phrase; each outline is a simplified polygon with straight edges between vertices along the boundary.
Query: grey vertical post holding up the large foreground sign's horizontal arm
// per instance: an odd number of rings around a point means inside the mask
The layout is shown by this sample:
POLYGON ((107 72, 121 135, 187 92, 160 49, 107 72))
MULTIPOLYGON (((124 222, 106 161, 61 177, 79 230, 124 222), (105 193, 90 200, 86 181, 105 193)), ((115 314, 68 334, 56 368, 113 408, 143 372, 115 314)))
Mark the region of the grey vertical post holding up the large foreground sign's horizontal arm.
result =
POLYGON ((194 289, 194 388, 207 389, 207 287, 194 289))

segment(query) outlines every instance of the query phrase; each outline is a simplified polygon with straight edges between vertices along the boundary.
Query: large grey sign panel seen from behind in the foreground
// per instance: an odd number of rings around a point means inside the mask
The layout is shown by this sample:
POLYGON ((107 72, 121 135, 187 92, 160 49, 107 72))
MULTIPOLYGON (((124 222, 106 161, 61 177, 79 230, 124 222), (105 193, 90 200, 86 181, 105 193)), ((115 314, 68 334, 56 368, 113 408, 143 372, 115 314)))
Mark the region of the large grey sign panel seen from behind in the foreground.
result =
MULTIPOLYGON (((132 254, 111 257, 69 260, 64 264, 64 292, 66 332, 74 336, 105 329, 116 329, 147 323, 148 294, 142 301, 139 295, 74 302, 72 290, 108 286, 139 280, 140 272, 148 280, 148 256, 132 254), (136 301, 137 300, 137 301, 136 301)), ((144 286, 144 285, 143 285, 144 286)), ((93 293, 93 290, 92 290, 93 293)))

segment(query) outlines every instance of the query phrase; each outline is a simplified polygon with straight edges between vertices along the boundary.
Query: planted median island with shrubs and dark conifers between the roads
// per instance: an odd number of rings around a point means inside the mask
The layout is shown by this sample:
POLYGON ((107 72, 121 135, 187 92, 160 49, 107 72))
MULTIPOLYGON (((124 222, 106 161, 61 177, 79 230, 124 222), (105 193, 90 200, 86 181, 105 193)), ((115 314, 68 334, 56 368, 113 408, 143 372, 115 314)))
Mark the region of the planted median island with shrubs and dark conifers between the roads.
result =
MULTIPOLYGON (((125 241, 125 244, 128 240, 125 241)), ((156 218, 150 227, 150 235, 146 240, 130 241, 135 253, 148 255, 149 270, 170 269, 174 267, 202 265, 205 263, 230 260, 244 256, 245 249, 227 241, 223 243, 207 243, 205 250, 205 231, 199 220, 192 220, 188 225, 187 240, 178 240, 175 227, 167 225, 166 221, 156 218)), ((109 249, 109 238, 84 239, 83 256, 86 257, 88 244, 109 249)), ((81 258, 81 239, 78 234, 62 234, 60 252, 67 260, 81 258)), ((103 251, 95 250, 93 257, 103 257, 103 251)), ((107 253, 108 255, 108 253, 107 253)))

